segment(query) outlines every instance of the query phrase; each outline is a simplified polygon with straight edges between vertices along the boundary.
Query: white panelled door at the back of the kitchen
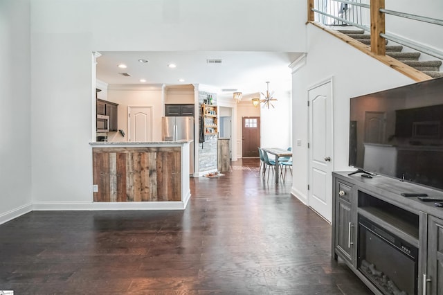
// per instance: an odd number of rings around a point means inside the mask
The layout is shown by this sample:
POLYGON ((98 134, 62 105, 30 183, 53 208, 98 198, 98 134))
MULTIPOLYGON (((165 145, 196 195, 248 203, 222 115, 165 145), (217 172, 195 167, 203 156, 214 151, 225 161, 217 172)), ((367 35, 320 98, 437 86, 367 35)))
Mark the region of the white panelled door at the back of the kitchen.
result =
POLYGON ((128 107, 129 141, 152 141, 152 107, 128 107))

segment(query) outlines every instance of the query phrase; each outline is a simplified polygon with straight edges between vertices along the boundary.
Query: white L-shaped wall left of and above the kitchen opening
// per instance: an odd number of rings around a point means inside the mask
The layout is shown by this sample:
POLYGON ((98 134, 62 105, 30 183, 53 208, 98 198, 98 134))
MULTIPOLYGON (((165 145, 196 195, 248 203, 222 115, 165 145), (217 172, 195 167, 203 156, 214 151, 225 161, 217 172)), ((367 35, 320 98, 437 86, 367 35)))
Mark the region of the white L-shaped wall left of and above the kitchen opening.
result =
POLYGON ((30 19, 39 208, 92 201, 91 52, 305 50, 305 39, 296 37, 305 35, 301 0, 33 0, 30 19))

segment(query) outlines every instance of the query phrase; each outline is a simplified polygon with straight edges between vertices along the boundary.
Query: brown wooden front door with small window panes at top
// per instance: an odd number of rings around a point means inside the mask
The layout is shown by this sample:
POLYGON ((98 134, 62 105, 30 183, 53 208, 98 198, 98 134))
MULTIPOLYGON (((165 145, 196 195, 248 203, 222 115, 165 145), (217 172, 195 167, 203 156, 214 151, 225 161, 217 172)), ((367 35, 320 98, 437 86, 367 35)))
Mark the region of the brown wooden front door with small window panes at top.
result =
POLYGON ((242 126, 242 157, 257 158, 257 147, 260 147, 260 117, 243 117, 242 126))

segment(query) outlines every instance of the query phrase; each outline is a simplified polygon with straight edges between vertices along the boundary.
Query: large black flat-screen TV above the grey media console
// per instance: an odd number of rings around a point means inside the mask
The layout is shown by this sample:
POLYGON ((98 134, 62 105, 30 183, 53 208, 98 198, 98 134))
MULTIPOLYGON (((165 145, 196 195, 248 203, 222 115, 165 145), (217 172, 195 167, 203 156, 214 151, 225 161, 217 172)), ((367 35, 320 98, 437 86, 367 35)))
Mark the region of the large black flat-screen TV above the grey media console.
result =
POLYGON ((349 165, 443 190, 443 78, 351 98, 349 165))

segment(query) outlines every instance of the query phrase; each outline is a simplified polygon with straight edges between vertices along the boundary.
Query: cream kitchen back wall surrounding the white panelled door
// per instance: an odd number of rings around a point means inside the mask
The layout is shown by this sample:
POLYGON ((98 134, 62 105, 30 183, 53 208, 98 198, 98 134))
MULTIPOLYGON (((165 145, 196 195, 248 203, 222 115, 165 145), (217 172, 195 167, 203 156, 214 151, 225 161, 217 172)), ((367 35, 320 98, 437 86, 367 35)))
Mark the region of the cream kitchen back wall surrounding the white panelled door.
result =
POLYGON ((109 85, 107 100, 118 103, 118 129, 125 131, 125 137, 121 136, 120 132, 109 132, 108 141, 128 141, 127 107, 152 107, 154 125, 152 140, 161 141, 161 117, 163 116, 161 91, 159 87, 143 85, 109 85))

